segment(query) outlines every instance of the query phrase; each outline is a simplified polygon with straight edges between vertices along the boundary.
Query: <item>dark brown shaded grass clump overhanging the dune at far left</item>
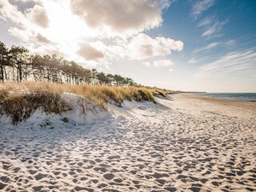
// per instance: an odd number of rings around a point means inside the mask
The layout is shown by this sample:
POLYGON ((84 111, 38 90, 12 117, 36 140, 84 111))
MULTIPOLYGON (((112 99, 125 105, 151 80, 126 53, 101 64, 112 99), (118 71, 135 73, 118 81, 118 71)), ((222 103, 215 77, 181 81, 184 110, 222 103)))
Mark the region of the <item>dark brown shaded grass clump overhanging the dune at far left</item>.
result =
MULTIPOLYGON (((71 110, 70 106, 62 101, 60 94, 51 93, 46 90, 33 90, 31 92, 6 93, 4 95, 0 111, 2 114, 10 116, 12 122, 17 124, 30 118, 31 114, 37 109, 42 109, 46 114, 61 114, 71 110)), ((0 96, 1 97, 1 96, 0 96)))

